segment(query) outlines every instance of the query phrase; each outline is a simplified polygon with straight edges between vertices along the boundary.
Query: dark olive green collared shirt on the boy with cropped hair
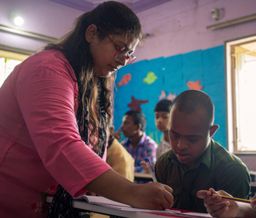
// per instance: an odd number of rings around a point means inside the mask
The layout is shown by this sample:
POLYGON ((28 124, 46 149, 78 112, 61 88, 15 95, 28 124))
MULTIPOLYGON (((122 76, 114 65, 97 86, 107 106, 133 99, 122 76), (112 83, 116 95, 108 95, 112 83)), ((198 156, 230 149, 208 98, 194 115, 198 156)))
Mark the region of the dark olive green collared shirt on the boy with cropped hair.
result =
POLYGON ((173 208, 207 212, 199 190, 224 190, 234 197, 247 199, 250 192, 250 174, 242 161, 214 140, 190 169, 181 164, 172 150, 157 158, 155 176, 163 184, 172 187, 173 208))

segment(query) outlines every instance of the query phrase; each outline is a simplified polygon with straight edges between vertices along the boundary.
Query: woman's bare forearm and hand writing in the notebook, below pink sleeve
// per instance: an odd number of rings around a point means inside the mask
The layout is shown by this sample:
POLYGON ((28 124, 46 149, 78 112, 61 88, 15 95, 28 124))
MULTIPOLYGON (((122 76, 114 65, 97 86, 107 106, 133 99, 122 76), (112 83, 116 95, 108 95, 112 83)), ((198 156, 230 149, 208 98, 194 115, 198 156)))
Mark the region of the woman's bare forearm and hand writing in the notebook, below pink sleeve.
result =
POLYGON ((169 186, 159 182, 135 184, 112 169, 89 182, 84 188, 113 201, 143 209, 167 209, 172 207, 174 200, 169 186))

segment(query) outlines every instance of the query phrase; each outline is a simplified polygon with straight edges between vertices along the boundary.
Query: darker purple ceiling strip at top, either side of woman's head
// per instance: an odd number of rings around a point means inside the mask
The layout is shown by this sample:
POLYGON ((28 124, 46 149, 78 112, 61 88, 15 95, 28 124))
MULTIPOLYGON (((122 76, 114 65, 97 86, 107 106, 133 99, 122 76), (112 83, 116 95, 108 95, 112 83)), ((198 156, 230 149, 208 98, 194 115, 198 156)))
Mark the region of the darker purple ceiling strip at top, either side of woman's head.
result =
MULTIPOLYGON (((74 9, 78 9, 84 12, 91 11, 91 9, 96 7, 98 4, 104 2, 100 0, 49 0, 49 1, 59 3, 67 7, 72 7, 74 9)), ((159 6, 160 4, 163 4, 168 1, 171 1, 171 0, 119 0, 119 2, 126 4, 135 12, 141 12, 141 11, 150 9, 152 7, 159 6)))

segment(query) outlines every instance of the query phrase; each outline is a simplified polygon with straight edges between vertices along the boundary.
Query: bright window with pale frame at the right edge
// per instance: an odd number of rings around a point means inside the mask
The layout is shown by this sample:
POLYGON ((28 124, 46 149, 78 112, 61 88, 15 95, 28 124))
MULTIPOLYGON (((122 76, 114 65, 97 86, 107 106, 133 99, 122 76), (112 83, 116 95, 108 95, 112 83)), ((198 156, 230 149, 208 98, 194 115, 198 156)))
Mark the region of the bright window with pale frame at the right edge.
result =
POLYGON ((226 42, 229 150, 256 151, 256 36, 226 42))

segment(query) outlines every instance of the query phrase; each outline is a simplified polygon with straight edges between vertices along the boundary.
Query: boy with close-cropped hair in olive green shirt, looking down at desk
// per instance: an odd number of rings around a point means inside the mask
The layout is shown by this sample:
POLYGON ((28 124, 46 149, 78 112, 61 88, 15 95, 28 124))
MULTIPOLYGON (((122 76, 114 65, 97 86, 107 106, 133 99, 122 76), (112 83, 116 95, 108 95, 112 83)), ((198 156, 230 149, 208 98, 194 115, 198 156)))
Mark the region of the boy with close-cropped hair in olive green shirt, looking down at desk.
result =
POLYGON ((172 187, 174 208, 207 212, 197 191, 224 190, 246 199, 250 191, 247 167, 210 137, 214 124, 214 103, 199 90, 187 90, 175 98, 169 116, 172 149, 159 156, 155 176, 172 187))

